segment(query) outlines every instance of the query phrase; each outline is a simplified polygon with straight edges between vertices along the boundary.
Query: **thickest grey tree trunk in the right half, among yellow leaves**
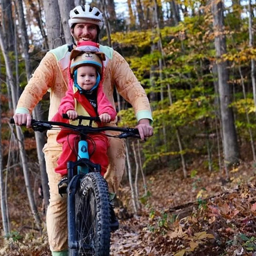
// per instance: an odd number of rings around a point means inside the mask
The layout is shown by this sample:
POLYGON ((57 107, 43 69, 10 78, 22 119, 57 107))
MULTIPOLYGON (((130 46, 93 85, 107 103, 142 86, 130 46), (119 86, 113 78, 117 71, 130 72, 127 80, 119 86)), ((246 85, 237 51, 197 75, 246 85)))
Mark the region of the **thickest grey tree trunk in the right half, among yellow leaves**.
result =
POLYGON ((213 26, 214 26, 214 46, 217 57, 217 71, 219 84, 219 97, 221 107, 221 123, 223 133, 223 149, 226 166, 226 176, 228 177, 228 167, 239 161, 239 149, 237 143, 237 132, 232 108, 230 107, 231 93, 228 84, 227 62, 221 60, 221 56, 226 53, 226 37, 223 31, 223 3, 214 1, 212 3, 213 26))

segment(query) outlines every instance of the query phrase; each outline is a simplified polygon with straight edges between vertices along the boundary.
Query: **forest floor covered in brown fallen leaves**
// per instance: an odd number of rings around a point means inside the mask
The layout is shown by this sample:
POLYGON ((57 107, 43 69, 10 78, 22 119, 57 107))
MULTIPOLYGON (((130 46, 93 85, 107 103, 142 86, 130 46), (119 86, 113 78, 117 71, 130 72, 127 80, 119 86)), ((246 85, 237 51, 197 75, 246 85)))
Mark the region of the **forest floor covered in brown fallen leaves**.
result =
MULTIPOLYGON (((129 185, 123 185, 111 256, 256 255, 255 173, 253 163, 241 163, 226 181, 225 174, 205 170, 203 161, 190 164, 186 179, 182 170, 159 170, 146 176, 147 194, 141 179, 137 214, 131 214, 129 185)), ((47 236, 28 227, 26 193, 15 196, 9 211, 16 230, 8 242, 0 241, 0 255, 50 255, 47 236)))

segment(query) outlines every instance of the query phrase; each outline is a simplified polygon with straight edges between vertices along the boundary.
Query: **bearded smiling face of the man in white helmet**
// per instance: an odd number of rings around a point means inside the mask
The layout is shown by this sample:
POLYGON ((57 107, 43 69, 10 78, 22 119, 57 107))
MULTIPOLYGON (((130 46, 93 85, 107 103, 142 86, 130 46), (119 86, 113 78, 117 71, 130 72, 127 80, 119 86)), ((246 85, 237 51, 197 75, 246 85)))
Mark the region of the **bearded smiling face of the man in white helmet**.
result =
POLYGON ((75 42, 80 41, 97 41, 97 25, 88 23, 77 23, 74 28, 71 28, 71 35, 73 35, 75 42))

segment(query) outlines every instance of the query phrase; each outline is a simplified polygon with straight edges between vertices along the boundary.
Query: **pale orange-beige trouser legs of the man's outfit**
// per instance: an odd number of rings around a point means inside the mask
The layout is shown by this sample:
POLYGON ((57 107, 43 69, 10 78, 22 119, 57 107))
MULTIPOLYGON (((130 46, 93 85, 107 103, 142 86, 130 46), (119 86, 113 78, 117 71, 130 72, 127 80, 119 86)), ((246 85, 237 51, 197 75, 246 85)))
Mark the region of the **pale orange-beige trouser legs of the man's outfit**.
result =
MULTIPOLYGON (((119 138, 109 137, 109 145, 109 167, 104 177, 109 184, 109 192, 117 192, 125 170, 125 144, 119 138)), ((61 176, 55 172, 57 159, 61 152, 62 146, 56 145, 56 136, 48 136, 48 141, 44 147, 44 155, 50 188, 46 225, 51 251, 62 251, 68 248, 66 195, 62 197, 58 193, 57 184, 61 176)))

